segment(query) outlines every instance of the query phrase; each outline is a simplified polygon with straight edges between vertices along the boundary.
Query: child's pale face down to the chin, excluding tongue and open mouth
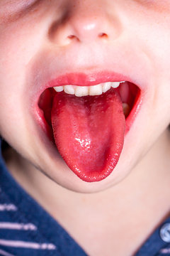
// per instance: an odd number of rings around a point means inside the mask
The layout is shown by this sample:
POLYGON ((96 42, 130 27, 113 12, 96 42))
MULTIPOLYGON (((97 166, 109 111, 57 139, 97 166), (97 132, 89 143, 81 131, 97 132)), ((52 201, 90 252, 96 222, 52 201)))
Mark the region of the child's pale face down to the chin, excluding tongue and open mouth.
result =
POLYGON ((89 192, 107 188, 130 172, 168 126, 169 67, 169 0, 1 1, 0 133, 60 185, 89 192), (140 88, 118 164, 100 182, 81 181, 70 171, 38 107, 48 82, 70 73, 101 82, 108 73, 116 80, 118 73, 118 80, 140 88))

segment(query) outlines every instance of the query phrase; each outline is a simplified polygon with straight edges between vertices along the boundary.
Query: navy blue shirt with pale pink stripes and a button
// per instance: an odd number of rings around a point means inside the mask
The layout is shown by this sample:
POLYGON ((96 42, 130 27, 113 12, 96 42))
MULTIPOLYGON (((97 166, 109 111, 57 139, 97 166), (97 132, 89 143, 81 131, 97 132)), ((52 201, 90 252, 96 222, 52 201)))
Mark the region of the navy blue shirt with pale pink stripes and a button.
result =
MULTIPOLYGON (((35 202, 9 174, 1 152, 0 255, 86 255, 86 252, 71 238, 67 231, 35 202)), ((136 256, 163 255, 170 256, 170 218, 167 218, 155 230, 136 254, 136 256)), ((118 255, 114 255, 113 252, 113 256, 118 255)))

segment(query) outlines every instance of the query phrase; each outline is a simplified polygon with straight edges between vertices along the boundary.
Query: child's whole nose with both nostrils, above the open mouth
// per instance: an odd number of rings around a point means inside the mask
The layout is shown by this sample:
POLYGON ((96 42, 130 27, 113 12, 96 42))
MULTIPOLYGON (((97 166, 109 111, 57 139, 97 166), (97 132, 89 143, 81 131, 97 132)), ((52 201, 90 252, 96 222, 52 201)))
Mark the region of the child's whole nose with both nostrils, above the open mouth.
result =
POLYGON ((120 36, 121 23, 105 0, 72 0, 50 28, 50 38, 60 46, 72 42, 111 41, 120 36))

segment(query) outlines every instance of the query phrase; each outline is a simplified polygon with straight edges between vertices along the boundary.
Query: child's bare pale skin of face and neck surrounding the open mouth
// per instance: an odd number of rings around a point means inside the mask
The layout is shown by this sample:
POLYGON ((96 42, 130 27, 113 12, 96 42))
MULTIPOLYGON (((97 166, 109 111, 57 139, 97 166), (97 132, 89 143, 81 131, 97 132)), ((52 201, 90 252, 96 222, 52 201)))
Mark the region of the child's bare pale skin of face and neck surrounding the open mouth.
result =
POLYGON ((90 255, 134 254, 169 215, 169 0, 4 0, 0 10, 0 133, 14 149, 8 169, 90 255), (58 73, 106 67, 145 93, 115 170, 86 183, 47 139, 35 102, 58 73), (91 245, 96 238, 107 252, 91 245))

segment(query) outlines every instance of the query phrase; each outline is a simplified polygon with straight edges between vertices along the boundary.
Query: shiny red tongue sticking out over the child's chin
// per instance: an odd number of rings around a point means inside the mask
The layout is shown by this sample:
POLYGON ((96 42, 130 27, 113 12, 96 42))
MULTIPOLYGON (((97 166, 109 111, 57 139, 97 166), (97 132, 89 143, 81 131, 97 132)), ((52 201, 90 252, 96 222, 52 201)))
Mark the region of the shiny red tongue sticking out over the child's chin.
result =
POLYGON ((52 129, 62 158, 83 181, 101 181, 113 171, 123 149, 125 116, 111 89, 98 96, 55 95, 52 129))

